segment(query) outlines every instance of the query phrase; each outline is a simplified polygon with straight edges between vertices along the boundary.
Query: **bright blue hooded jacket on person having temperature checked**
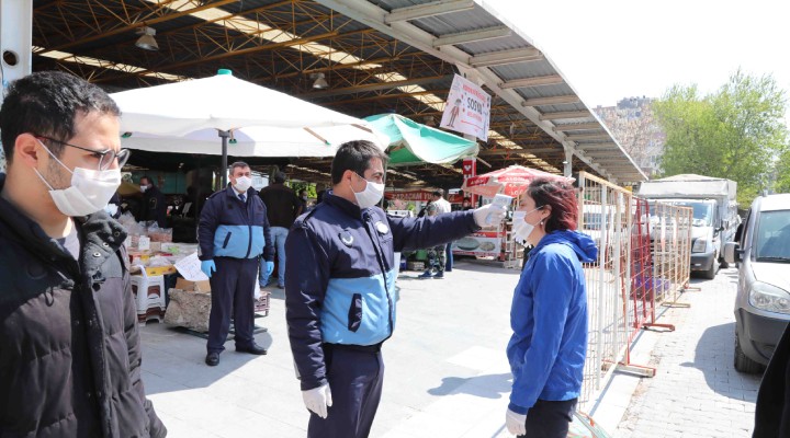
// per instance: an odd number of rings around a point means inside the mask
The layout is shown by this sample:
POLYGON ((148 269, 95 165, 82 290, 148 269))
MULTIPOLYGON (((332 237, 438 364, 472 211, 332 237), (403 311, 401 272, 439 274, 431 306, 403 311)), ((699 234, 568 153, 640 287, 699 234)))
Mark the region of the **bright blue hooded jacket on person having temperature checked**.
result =
POLYGON ((592 239, 576 231, 553 231, 531 251, 510 309, 510 411, 527 414, 538 399, 578 397, 587 354, 587 287, 580 262, 597 257, 592 239))

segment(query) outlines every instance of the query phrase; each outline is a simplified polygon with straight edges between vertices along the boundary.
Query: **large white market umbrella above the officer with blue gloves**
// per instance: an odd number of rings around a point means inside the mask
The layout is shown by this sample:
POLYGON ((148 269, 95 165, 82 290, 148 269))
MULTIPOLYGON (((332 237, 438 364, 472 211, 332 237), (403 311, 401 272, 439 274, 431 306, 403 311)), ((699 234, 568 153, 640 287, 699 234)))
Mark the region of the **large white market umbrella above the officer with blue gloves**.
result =
MULTIPOLYGON (((229 70, 111 96, 121 108, 124 147, 222 154, 223 168, 227 168, 228 139, 236 155, 241 155, 236 146, 249 138, 246 150, 253 152, 248 155, 298 157, 312 150, 326 157, 334 153, 339 140, 381 138, 364 120, 242 81, 229 70), (208 146, 211 137, 214 148, 208 146), (217 137, 222 138, 222 149, 217 137), (307 147, 314 141, 308 137, 315 139, 313 147, 307 147), (234 145, 233 140, 238 142, 234 145), (320 145, 324 149, 316 147, 320 145)), ((383 150, 387 141, 374 142, 383 150)), ((223 173, 223 186, 225 183, 223 173)))

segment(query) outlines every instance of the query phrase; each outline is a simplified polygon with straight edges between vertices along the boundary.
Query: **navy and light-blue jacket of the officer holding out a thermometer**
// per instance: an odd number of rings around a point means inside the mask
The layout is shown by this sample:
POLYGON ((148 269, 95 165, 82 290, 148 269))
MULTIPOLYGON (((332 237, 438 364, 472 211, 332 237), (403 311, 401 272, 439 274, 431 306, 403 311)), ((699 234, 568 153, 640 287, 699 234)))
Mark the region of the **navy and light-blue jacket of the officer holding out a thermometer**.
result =
POLYGON ((396 218, 327 193, 285 240, 285 318, 302 390, 326 383, 323 343, 371 346, 395 327, 395 252, 477 230, 472 211, 396 218))

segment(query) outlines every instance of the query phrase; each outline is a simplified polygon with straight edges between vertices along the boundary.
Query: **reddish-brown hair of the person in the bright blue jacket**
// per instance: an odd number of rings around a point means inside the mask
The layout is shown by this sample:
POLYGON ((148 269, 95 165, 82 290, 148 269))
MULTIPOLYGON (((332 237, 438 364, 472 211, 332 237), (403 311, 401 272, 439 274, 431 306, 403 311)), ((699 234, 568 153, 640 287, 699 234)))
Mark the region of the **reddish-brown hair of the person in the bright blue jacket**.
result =
POLYGON ((535 203, 535 208, 551 206, 545 231, 575 230, 578 223, 578 201, 576 189, 571 184, 546 178, 532 180, 527 194, 535 203))

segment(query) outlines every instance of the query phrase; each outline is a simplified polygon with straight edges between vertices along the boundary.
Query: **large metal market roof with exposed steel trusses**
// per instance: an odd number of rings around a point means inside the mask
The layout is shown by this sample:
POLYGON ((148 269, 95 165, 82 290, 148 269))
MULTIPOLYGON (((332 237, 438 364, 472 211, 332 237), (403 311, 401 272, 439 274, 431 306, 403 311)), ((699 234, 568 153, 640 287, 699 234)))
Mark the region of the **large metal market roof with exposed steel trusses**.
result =
MULTIPOLYGON (((439 119, 453 74, 494 95, 492 169, 526 164, 588 171, 618 183, 645 180, 548 56, 473 0, 41 0, 33 11, 33 69, 67 70, 112 91, 203 78, 240 78, 356 117, 398 113, 439 119), (158 51, 135 47, 156 30, 158 51), (319 76, 328 88, 314 89, 319 76)), ((320 84, 320 83, 319 83, 320 84)), ((260 102, 266 105, 266 102, 260 102)), ((327 160, 295 172, 328 174, 327 160)), ((391 173, 398 185, 458 185, 459 164, 391 173), (410 173, 409 173, 410 172, 410 173)))

